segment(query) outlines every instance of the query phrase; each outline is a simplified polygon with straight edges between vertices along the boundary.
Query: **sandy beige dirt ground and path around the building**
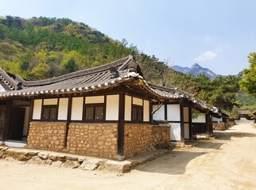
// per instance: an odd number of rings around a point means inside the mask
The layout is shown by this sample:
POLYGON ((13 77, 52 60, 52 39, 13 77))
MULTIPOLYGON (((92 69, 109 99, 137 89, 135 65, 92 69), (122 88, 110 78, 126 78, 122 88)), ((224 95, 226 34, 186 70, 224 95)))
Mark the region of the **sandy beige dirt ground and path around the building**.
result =
POLYGON ((215 135, 122 177, 0 160, 0 189, 256 189, 256 128, 238 124, 215 135))

